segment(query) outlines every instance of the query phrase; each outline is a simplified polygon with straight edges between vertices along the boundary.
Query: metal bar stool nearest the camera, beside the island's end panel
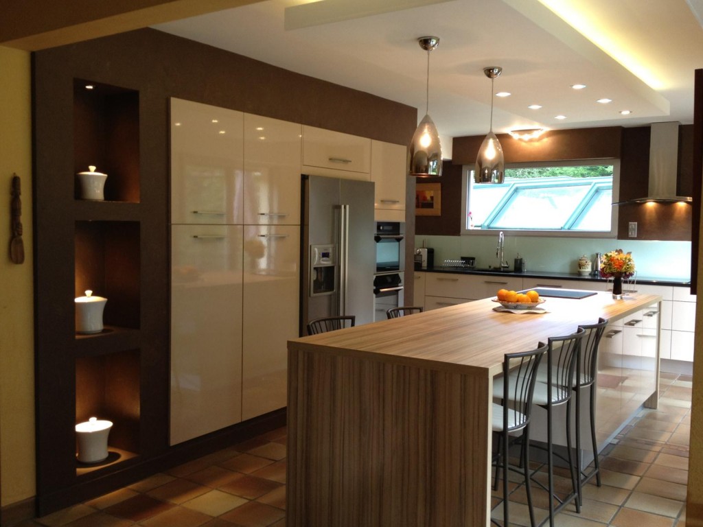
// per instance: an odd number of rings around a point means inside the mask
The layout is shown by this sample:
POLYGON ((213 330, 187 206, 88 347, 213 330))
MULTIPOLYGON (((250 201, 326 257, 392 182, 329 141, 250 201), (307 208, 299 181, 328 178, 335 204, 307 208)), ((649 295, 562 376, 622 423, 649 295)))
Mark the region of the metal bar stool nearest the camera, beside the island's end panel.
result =
MULTIPOLYGON (((525 490, 527 492, 527 507, 531 526, 534 527, 534 510, 532 508, 532 492, 530 488, 529 474, 529 422, 532 410, 532 395, 536 380, 536 372, 540 360, 548 349, 546 344, 540 342, 538 348, 521 353, 506 353, 503 359, 503 377, 496 379, 501 386, 501 403, 493 403, 492 429, 498 441, 493 464, 496 467, 496 483, 494 489, 498 488, 498 471, 503 469, 503 525, 508 526, 508 470, 520 472, 517 467, 510 467, 508 450, 510 448, 510 437, 514 441, 520 441, 522 464, 522 474, 525 480, 525 490), (505 382, 508 379, 508 382, 505 382), (519 436, 515 436, 520 432, 519 436)), ((500 525, 491 518, 491 523, 500 525)))

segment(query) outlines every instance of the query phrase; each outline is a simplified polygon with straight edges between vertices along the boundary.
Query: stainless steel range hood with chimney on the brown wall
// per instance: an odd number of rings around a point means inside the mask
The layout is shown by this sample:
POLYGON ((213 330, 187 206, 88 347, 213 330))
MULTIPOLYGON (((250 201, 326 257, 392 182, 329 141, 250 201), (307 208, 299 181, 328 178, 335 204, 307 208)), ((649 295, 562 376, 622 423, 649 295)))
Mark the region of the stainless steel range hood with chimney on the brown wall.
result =
POLYGON ((650 179, 647 195, 614 203, 692 202, 690 196, 676 195, 678 169, 678 122, 653 123, 650 131, 650 179))

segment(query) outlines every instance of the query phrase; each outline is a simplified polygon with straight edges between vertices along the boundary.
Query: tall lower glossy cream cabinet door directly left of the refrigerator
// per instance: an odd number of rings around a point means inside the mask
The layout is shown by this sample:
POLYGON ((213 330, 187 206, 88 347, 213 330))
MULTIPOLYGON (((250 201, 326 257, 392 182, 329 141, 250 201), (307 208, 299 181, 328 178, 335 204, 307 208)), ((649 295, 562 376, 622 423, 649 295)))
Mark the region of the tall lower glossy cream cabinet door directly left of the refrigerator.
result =
POLYGON ((245 226, 242 419, 286 405, 298 337, 299 226, 245 226))

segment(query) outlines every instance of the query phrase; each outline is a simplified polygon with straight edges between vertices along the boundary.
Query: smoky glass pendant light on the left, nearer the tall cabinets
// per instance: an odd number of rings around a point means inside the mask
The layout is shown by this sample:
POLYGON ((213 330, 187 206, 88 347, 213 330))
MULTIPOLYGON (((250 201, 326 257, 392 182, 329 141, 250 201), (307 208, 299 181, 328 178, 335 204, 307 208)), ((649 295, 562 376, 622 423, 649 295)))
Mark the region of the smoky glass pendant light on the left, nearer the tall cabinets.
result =
POLYGON ((426 178, 430 176, 441 176, 441 145, 439 144, 439 133, 437 126, 434 126, 430 117, 430 51, 439 44, 439 37, 420 37, 418 39, 420 47, 427 51, 427 107, 425 117, 418 124, 418 129, 413 134, 413 141, 410 143, 410 167, 408 172, 411 176, 426 178))

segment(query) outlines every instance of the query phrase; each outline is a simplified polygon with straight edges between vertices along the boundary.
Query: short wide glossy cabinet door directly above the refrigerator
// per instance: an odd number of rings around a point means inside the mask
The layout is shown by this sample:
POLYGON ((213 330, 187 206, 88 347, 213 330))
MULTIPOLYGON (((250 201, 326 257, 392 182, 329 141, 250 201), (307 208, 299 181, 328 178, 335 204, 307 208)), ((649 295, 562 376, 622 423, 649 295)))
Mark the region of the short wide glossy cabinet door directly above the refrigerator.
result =
POLYGON ((314 126, 302 128, 305 174, 369 180, 370 139, 314 126))

